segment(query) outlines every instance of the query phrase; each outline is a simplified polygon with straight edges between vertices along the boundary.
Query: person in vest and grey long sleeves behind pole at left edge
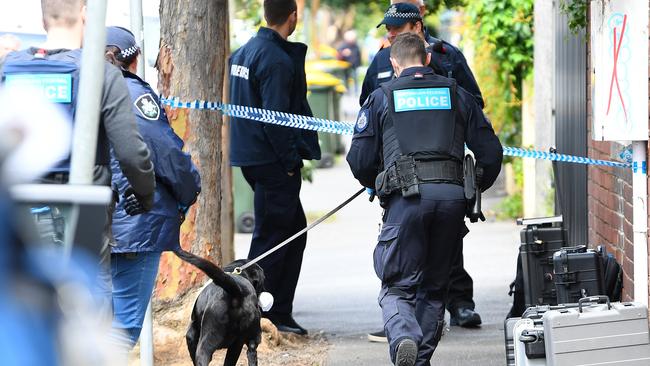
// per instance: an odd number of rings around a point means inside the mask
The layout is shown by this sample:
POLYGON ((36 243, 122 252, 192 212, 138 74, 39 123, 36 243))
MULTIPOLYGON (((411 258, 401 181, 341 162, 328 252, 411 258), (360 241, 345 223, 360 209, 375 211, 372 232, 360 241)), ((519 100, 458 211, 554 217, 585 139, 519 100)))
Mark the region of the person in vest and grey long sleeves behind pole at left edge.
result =
MULTIPOLYGON (((44 93, 74 116, 79 85, 81 41, 86 18, 85 0, 42 0, 43 25, 47 41, 42 48, 30 48, 9 53, 4 65, 0 65, 1 80, 8 84, 27 81, 29 85, 54 86, 56 95, 44 93), (52 78, 53 74, 60 77, 52 78), (61 84, 61 80, 65 83, 61 84)), ((153 204, 155 188, 154 170, 149 159, 149 149, 138 132, 131 110, 129 91, 122 74, 106 63, 101 98, 99 136, 93 180, 98 185, 111 184, 109 144, 119 162, 124 176, 133 188, 134 197, 145 209, 153 204)), ((47 121, 43 121, 47 123, 47 121)), ((65 184, 68 182, 70 159, 62 161, 43 181, 65 184)), ((114 205, 114 202, 113 204, 114 205)), ((111 205, 111 206, 112 206, 111 205)), ((112 209, 110 209, 112 211, 112 209)), ((108 241, 111 229, 109 213, 101 249, 100 291, 106 296, 110 308, 110 249, 108 241)))

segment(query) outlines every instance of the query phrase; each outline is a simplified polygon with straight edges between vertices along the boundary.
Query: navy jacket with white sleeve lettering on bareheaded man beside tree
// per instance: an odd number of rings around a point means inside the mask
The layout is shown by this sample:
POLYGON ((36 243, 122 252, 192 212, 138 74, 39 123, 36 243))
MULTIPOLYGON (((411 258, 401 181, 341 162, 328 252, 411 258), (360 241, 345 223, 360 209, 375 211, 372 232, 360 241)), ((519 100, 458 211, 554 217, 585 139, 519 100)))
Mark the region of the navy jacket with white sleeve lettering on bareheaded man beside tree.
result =
MULTIPOLYGON (((306 45, 288 42, 274 30, 261 27, 230 57, 230 102, 312 116, 307 103, 306 53, 306 45)), ((234 166, 279 162, 290 172, 302 166, 302 159, 320 159, 314 131, 232 118, 230 138, 234 166)))

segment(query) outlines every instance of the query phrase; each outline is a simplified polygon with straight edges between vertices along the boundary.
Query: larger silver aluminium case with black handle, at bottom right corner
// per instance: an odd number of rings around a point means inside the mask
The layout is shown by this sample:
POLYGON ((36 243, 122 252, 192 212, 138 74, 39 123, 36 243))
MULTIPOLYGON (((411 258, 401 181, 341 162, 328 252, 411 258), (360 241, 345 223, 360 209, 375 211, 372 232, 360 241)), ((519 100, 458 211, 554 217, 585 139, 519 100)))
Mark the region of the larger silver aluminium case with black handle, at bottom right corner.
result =
POLYGON ((650 365, 645 305, 594 296, 580 299, 577 309, 549 310, 542 319, 549 366, 650 365), (606 304, 585 306, 601 301, 606 304))

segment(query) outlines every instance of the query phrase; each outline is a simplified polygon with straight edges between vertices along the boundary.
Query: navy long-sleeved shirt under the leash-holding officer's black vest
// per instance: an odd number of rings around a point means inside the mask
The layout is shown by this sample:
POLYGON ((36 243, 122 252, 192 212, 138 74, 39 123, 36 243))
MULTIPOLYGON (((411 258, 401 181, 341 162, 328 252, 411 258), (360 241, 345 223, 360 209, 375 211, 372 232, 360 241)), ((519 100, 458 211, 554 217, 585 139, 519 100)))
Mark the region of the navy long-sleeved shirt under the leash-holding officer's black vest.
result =
MULTIPOLYGON (((411 67, 402 72, 400 78, 412 76, 415 73, 433 73, 429 67, 411 67)), ((489 188, 501 170, 503 148, 494 134, 490 121, 476 103, 473 95, 461 87, 456 88, 458 111, 465 125, 465 143, 472 150, 477 164, 483 168, 481 189, 489 188)), ((347 161, 352 174, 368 188, 375 188, 375 178, 384 167, 382 166, 382 114, 388 107, 388 98, 383 90, 376 89, 359 111, 359 117, 354 128, 352 145, 348 152, 347 161), (365 118, 362 118, 362 115, 365 118)), ((437 184, 436 186, 443 186, 437 184)), ((460 188, 460 187, 459 187, 460 188)))

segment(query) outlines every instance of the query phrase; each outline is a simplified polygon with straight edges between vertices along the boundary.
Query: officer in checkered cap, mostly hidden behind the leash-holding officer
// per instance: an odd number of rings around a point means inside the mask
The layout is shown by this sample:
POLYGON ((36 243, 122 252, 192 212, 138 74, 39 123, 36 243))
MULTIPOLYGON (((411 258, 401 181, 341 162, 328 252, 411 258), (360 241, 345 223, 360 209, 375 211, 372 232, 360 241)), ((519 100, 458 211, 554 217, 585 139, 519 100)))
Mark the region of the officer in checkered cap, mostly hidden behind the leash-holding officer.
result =
MULTIPOLYGON (((386 11, 384 19, 378 25, 386 25, 389 41, 398 34, 411 32, 418 34, 427 44, 427 51, 431 54, 429 66, 438 75, 454 78, 458 85, 474 96, 476 102, 483 108, 483 97, 474 79, 474 75, 467 65, 463 54, 453 45, 430 36, 422 23, 422 16, 426 8, 422 0, 407 0, 404 2, 391 1, 392 5, 386 11)), ((360 103, 379 87, 383 82, 393 78, 393 68, 390 63, 390 47, 379 51, 373 59, 363 82, 360 103)), ((474 310, 474 283, 472 277, 463 266, 463 237, 469 233, 464 228, 459 250, 453 260, 451 281, 449 284, 449 302, 447 309, 450 313, 451 325, 463 327, 476 327, 481 324, 481 316, 474 310)), ((371 341, 385 341, 383 331, 368 334, 371 341)))

